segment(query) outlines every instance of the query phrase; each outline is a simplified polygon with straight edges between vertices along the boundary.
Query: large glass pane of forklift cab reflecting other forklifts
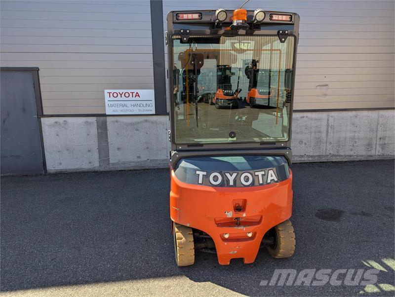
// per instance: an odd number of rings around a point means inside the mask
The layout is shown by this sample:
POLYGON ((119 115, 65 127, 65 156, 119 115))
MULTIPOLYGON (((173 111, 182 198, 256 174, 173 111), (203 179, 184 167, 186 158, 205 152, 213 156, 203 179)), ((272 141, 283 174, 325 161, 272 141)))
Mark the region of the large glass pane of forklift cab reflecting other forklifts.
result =
POLYGON ((293 52, 294 37, 174 37, 176 143, 287 141, 293 52))

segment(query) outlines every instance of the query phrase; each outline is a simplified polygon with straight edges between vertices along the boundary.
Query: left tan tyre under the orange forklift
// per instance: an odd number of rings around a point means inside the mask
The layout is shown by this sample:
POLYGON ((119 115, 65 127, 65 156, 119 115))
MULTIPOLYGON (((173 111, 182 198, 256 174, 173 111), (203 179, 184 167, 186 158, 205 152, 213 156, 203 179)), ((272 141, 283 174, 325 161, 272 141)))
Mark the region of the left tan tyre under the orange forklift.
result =
POLYGON ((174 253, 177 266, 189 266, 195 262, 195 246, 192 228, 173 224, 174 253))

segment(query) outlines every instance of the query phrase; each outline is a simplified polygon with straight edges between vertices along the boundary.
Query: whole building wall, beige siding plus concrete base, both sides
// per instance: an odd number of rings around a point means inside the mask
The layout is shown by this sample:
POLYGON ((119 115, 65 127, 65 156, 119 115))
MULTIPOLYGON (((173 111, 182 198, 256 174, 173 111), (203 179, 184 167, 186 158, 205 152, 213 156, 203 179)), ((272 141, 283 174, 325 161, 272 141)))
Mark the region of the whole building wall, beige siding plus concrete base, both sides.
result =
MULTIPOLYGON (((163 26, 170 10, 240 2, 164 0, 163 26)), ((296 110, 394 107, 393 0, 251 0, 246 8, 256 5, 301 16, 296 110)), ((44 114, 92 114, 41 118, 48 172, 168 166, 168 116, 94 115, 105 112, 104 89, 154 88, 149 1, 7 0, 0 19, 0 66, 40 68, 44 114)), ((394 117, 295 112, 294 161, 391 158, 394 117)))

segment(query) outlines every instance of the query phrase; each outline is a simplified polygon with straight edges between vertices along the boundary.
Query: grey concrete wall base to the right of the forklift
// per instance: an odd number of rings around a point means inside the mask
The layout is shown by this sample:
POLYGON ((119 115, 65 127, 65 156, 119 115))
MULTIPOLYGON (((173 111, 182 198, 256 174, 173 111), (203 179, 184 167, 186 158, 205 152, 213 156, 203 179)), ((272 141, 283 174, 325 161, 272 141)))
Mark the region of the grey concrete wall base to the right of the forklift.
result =
POLYGON ((392 158, 395 111, 295 112, 295 162, 392 158))

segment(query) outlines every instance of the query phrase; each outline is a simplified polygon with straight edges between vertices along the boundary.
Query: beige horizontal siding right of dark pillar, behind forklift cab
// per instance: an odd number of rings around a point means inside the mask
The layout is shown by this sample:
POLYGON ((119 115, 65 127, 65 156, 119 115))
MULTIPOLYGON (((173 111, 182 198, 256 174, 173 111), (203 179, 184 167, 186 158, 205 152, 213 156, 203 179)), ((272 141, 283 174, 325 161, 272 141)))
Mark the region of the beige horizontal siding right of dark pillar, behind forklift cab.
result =
MULTIPOLYGON (((164 28, 168 11, 242 2, 163 0, 164 28)), ((244 7, 300 15, 295 109, 394 107, 393 0, 250 0, 244 7)))

